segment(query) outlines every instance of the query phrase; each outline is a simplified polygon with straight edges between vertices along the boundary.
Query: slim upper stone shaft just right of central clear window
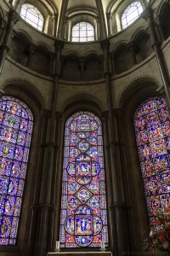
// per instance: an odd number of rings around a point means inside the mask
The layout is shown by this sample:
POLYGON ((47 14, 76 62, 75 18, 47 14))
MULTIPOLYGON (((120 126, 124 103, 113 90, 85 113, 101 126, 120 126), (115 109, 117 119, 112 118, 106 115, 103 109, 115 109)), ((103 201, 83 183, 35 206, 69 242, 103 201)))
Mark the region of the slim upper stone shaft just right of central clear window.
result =
POLYGON ((104 15, 104 9, 103 9, 103 4, 101 0, 95 0, 96 2, 96 7, 98 9, 98 17, 99 17, 99 28, 100 28, 100 35, 101 38, 106 38, 107 33, 106 33, 106 26, 105 26, 105 15, 104 15))

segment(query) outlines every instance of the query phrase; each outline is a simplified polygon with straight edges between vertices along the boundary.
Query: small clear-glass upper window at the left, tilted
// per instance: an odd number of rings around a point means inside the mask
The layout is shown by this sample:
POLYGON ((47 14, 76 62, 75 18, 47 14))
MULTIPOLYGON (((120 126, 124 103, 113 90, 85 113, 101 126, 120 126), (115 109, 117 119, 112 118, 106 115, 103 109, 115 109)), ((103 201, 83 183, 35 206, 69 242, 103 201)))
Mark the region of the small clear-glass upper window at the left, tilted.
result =
POLYGON ((42 31, 43 17, 40 11, 35 6, 29 3, 23 4, 20 10, 20 16, 29 24, 31 24, 31 26, 34 26, 38 30, 42 31))

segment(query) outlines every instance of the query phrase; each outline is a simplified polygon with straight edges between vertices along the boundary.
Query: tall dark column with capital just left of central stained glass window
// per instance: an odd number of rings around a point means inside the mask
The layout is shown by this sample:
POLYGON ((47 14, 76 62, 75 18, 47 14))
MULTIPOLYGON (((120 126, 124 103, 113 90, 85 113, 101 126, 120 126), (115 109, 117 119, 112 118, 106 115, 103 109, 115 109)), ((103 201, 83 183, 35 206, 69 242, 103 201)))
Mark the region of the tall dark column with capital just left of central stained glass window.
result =
POLYGON ((37 241, 37 256, 45 256, 48 250, 48 235, 50 233, 49 221, 50 212, 54 210, 51 204, 52 184, 54 175, 55 153, 55 130, 56 130, 56 105, 58 96, 59 74, 60 74, 60 55, 63 42, 55 40, 55 68, 54 68, 54 86, 51 98, 51 113, 48 124, 48 138, 43 157, 42 168, 42 187, 39 201, 40 212, 38 216, 39 232, 37 241))

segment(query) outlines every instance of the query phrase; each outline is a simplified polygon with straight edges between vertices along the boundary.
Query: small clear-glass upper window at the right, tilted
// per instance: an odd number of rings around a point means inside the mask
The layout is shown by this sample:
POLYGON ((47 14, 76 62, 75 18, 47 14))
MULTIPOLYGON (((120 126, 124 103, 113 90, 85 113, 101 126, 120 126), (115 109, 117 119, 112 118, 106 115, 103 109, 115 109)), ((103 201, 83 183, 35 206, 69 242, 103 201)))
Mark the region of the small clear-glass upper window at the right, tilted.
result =
POLYGON ((133 2, 128 5, 127 9, 122 14, 122 28, 125 28, 138 19, 139 15, 143 12, 143 7, 139 1, 133 2))

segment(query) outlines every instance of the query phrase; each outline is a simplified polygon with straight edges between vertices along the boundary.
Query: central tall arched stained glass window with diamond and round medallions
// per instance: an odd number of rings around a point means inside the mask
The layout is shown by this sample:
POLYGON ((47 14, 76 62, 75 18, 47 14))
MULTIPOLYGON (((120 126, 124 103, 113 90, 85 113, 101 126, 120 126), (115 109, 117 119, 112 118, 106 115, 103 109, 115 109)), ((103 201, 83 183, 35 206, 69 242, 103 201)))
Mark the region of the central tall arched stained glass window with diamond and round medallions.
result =
POLYGON ((108 247, 102 127, 90 112, 65 125, 60 214, 61 247, 108 247))

